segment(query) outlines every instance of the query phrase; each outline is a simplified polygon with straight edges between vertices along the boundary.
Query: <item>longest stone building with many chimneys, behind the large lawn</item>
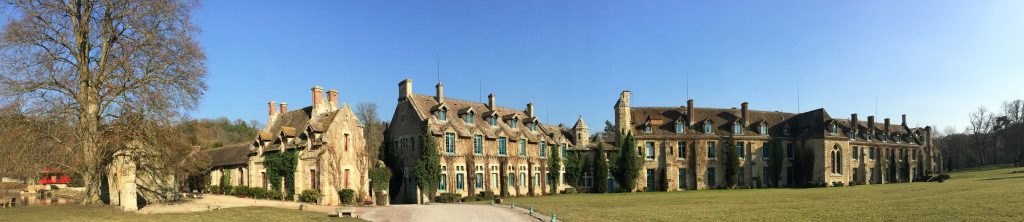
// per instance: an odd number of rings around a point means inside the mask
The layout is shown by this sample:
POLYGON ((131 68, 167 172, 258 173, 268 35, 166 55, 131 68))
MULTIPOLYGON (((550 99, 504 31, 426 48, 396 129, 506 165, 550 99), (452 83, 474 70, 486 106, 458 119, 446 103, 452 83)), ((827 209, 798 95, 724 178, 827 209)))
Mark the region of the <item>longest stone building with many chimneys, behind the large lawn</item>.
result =
MULTIPOLYGON (((632 133, 643 170, 638 190, 708 189, 723 184, 723 150, 739 154, 739 186, 766 186, 769 160, 784 158, 779 184, 794 184, 794 154, 804 148, 813 157, 810 182, 873 184, 908 182, 935 172, 939 158, 932 129, 911 128, 906 116, 898 124, 878 123, 851 115, 833 118, 823 108, 790 114, 740 108, 631 106, 631 92, 623 91, 614 105, 618 132, 632 133), (735 147, 722 147, 729 136, 735 147), (777 138, 784 157, 771 157, 764 147, 777 138)), ((622 134, 617 136, 624 136, 622 134)))

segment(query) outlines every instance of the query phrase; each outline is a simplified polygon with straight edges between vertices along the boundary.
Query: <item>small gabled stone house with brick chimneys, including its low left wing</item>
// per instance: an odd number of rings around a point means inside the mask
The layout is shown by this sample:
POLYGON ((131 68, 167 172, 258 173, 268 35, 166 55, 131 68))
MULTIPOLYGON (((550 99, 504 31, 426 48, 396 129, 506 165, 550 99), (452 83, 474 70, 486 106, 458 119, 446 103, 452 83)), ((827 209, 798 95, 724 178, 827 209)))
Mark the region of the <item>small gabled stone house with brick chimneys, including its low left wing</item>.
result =
MULTIPOLYGON (((341 203, 338 196, 341 189, 352 189, 357 196, 369 198, 368 172, 372 160, 368 157, 362 124, 349 105, 338 103, 338 91, 325 94, 316 86, 311 94, 311 105, 294 110, 286 102, 280 106, 274 101, 268 102, 266 127, 253 142, 209 150, 213 158, 211 185, 223 185, 220 178, 229 175, 230 185, 271 189, 264 160, 288 151, 298 157, 295 187, 289 192, 315 189, 321 193, 317 204, 328 206, 341 203)), ((298 195, 293 198, 297 201, 298 195)))

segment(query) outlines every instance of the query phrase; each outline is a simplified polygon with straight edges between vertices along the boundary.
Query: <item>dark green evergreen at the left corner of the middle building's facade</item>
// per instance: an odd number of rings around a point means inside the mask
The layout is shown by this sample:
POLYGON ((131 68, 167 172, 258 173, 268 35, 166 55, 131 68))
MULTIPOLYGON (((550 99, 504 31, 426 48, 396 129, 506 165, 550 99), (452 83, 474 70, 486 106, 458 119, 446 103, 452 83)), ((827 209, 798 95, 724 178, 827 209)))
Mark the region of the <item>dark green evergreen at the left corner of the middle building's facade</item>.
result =
POLYGON ((437 142, 434 141, 433 135, 430 135, 429 129, 424 128, 421 137, 423 146, 420 160, 416 161, 416 182, 420 190, 433 199, 441 178, 440 154, 437 151, 437 142))

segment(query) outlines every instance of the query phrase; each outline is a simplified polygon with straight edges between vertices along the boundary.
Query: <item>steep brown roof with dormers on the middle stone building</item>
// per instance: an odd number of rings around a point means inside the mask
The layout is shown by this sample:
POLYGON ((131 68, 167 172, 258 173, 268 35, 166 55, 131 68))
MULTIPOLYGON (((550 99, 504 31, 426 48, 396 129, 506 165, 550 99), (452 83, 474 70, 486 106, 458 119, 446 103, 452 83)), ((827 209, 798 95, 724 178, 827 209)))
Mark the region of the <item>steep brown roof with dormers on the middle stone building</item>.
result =
MULTIPOLYGON (((413 105, 420 116, 421 120, 427 120, 430 126, 430 131, 434 135, 440 135, 445 129, 454 129, 459 133, 460 136, 468 137, 474 134, 480 134, 487 138, 498 138, 500 133, 505 133, 510 140, 528 139, 530 142, 541 141, 556 141, 557 137, 551 137, 546 131, 552 130, 546 127, 543 123, 540 123, 539 119, 536 117, 529 118, 525 112, 497 106, 495 110, 487 108, 487 104, 480 102, 473 102, 455 98, 444 97, 443 105, 449 108, 447 120, 443 123, 438 122, 434 118, 432 110, 435 107, 439 107, 437 99, 432 95, 423 94, 413 94, 409 97, 412 100, 413 105), (473 112, 473 123, 469 124, 463 119, 463 112, 472 107, 473 112), (490 117, 495 112, 498 113, 498 126, 492 127, 485 118, 490 117), (482 114, 481 114, 482 113, 482 114), (508 126, 509 120, 513 117, 519 119, 516 124, 516 129, 512 129, 508 126), (531 132, 529 127, 526 125, 528 121, 538 120, 539 126, 537 132, 531 132)), ((556 133, 560 134, 560 133, 556 133)))

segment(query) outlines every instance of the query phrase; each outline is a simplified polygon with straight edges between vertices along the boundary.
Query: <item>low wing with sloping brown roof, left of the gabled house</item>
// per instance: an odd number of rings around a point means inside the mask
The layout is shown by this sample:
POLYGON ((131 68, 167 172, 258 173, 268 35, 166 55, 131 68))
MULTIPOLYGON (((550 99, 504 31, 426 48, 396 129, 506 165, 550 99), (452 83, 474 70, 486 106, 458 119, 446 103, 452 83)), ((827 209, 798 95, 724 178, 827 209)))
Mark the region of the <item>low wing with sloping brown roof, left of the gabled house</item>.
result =
POLYGON ((225 145, 205 150, 211 159, 210 185, 223 186, 226 176, 230 186, 249 186, 249 148, 248 142, 225 145))

